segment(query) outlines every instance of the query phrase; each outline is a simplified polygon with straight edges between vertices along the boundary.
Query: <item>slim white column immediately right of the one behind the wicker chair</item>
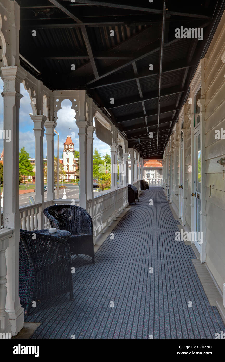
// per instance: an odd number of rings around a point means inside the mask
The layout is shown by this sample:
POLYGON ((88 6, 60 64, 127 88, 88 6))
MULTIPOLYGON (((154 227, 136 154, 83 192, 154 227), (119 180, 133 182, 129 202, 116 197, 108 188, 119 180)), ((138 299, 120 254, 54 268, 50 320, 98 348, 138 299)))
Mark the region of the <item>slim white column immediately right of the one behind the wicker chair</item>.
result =
POLYGON ((94 126, 87 128, 87 198, 92 199, 91 217, 93 218, 93 133, 95 131, 94 126))

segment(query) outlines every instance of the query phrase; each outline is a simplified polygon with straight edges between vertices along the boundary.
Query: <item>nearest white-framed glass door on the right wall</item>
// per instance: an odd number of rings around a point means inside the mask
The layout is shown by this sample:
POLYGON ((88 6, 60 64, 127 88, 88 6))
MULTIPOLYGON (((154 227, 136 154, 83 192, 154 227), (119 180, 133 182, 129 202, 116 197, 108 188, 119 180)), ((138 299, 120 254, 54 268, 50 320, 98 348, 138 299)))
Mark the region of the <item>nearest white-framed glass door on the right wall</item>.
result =
POLYGON ((195 246, 200 252, 199 237, 201 231, 200 211, 201 211, 201 140, 200 130, 194 135, 194 228, 195 228, 195 246))

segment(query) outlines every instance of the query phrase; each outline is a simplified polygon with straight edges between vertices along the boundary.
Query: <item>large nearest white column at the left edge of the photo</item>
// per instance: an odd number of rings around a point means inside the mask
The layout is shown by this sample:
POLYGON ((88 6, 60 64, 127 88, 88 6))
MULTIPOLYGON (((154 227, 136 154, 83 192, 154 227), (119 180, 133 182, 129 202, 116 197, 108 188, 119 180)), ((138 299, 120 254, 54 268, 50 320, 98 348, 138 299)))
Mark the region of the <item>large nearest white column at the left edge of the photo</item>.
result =
POLYGON ((26 73, 17 66, 1 67, 4 81, 4 130, 11 134, 10 142, 4 139, 4 214, 5 228, 11 228, 13 235, 6 250, 7 262, 7 299, 6 311, 12 325, 13 335, 24 325, 24 309, 20 305, 18 294, 18 265, 20 239, 19 212, 19 111, 20 83, 26 73))

